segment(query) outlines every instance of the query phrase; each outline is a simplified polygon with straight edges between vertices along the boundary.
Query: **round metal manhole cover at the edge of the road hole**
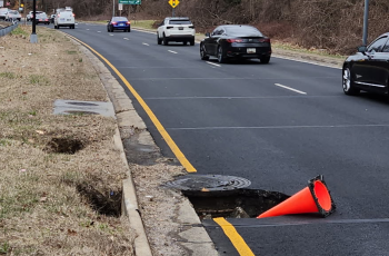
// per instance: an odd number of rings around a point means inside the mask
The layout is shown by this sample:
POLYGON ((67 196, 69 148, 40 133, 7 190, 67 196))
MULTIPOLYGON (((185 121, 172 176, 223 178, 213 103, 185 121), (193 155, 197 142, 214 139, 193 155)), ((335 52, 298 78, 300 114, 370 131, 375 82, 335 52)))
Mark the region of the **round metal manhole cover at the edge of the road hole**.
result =
POLYGON ((186 175, 166 184, 183 191, 225 191, 250 185, 251 181, 248 179, 222 175, 186 175))

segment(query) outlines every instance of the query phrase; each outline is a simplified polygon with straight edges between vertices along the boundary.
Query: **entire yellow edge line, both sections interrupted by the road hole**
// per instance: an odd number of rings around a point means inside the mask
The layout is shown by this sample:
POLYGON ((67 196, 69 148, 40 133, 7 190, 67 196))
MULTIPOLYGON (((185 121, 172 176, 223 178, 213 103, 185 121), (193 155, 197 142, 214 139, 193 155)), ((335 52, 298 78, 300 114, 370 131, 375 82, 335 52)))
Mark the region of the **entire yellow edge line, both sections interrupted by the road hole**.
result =
MULTIPOLYGON (((171 151, 174 154, 177 159, 181 163, 181 165, 187 169, 188 173, 196 173, 197 170, 188 161, 186 156, 182 154, 182 151, 177 147, 176 142, 171 139, 170 135, 161 122, 158 120, 156 115, 152 112, 152 110, 149 108, 149 106, 144 102, 142 97, 133 89, 133 87, 130 85, 129 81, 119 72, 119 70, 111 63, 109 60, 107 60, 102 55, 100 55, 98 51, 96 51, 93 48, 84 43, 83 41, 68 35, 71 39, 74 41, 81 43, 82 46, 87 47, 89 50, 91 50, 94 55, 100 57, 114 72, 118 75, 118 77, 122 80, 122 82, 127 86, 127 88, 131 91, 131 93, 136 97, 138 102, 142 106, 149 118, 151 119, 152 124, 156 126, 158 131, 161 134, 164 141, 170 147, 171 151)), ((253 256, 255 254, 251 252, 250 247, 246 244, 243 238, 239 235, 237 229, 225 218, 213 218, 213 220, 223 229, 226 236, 231 240, 235 248, 238 250, 238 253, 241 256, 253 256)))

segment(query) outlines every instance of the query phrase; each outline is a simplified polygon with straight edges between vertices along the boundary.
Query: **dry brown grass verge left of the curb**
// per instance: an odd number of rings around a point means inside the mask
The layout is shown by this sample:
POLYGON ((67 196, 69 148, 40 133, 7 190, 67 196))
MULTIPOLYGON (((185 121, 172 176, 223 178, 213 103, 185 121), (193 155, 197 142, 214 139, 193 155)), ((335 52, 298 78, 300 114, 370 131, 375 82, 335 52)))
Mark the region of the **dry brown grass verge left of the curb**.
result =
POLYGON ((0 38, 0 254, 133 255, 114 120, 52 115, 56 99, 106 91, 62 33, 38 27, 33 45, 29 30, 0 38))

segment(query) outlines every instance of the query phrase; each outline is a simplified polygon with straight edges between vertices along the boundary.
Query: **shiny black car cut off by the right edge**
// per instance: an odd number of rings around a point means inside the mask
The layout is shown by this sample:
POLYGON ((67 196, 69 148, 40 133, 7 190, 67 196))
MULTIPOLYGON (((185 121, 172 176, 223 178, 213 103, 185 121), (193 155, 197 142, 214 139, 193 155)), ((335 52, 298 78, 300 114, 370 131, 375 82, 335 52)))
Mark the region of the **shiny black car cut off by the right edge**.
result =
POLYGON ((358 95, 360 90, 389 92, 389 32, 379 36, 368 47, 358 47, 343 63, 343 91, 358 95))

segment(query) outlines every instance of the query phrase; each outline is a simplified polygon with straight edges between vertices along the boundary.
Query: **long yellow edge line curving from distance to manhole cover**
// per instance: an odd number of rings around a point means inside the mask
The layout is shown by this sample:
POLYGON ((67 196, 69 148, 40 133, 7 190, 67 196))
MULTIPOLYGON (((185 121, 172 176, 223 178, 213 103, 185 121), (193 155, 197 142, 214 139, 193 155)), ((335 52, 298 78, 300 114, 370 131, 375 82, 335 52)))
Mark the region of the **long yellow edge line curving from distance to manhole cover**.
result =
POLYGON ((177 159, 181 163, 181 165, 187 169, 188 173, 196 173, 197 170, 194 169, 194 167, 188 161, 188 159, 186 158, 186 156, 181 152, 181 150, 177 147, 176 142, 171 139, 170 135, 168 134, 168 131, 166 131, 166 129, 163 128, 163 126, 161 125, 161 122, 158 120, 158 118, 156 117, 156 115, 151 111, 151 109, 149 108, 149 106, 144 102, 144 100, 142 99, 142 97, 140 97, 138 95, 138 92, 133 89, 133 87, 130 85, 129 81, 127 81, 127 79, 119 72, 119 70, 111 63, 109 62, 104 57, 102 57, 99 52, 97 52, 93 48, 91 48, 90 46, 88 46, 87 43, 84 43, 83 41, 70 36, 71 39, 80 42, 81 45, 83 45, 84 47, 87 47, 89 50, 91 50, 92 52, 94 52, 94 55, 97 55, 98 57, 100 57, 103 61, 106 61, 106 63, 118 75, 118 77, 124 82, 124 85, 127 86, 127 88, 131 91, 131 93, 136 97, 136 99, 138 100, 138 102, 142 106, 142 108, 144 109, 144 111, 147 112, 147 115, 150 117, 152 124, 157 127, 158 131, 161 134, 162 138, 164 139, 164 141, 168 144, 168 146, 170 147, 171 151, 174 154, 174 156, 177 157, 177 159))

